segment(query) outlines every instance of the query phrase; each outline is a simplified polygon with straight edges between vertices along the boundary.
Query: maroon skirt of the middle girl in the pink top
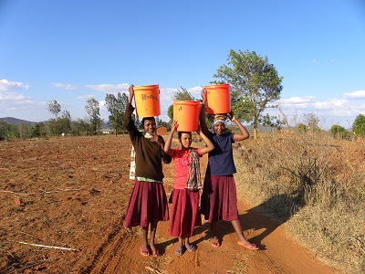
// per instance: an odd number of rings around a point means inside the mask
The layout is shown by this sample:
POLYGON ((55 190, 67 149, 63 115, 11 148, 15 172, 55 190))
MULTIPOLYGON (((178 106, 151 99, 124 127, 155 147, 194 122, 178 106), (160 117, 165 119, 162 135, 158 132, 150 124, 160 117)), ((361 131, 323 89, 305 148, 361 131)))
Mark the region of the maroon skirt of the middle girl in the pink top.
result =
POLYGON ((192 237, 193 228, 202 226, 199 196, 199 191, 173 189, 172 217, 169 226, 171 236, 192 237))

